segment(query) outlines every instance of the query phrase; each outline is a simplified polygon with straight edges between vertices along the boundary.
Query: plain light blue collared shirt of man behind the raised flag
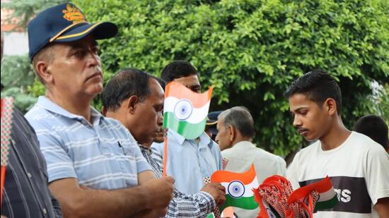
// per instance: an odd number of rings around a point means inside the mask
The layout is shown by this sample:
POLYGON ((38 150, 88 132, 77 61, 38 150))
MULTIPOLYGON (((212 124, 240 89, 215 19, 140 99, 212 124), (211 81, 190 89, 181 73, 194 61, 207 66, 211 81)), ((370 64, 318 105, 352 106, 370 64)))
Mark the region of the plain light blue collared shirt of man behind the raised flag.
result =
MULTIPOLYGON (((163 155, 163 143, 153 143, 153 149, 163 155)), ((168 130, 167 174, 175 178, 175 188, 182 193, 197 193, 214 171, 221 170, 221 152, 206 133, 196 140, 187 140, 168 130)))

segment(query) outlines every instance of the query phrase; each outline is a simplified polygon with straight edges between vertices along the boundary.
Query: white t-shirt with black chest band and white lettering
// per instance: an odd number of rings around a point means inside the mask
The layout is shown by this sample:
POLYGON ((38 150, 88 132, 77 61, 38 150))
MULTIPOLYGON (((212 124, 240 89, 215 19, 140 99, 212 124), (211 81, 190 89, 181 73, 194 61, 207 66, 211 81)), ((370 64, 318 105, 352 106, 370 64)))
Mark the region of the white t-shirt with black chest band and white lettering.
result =
POLYGON ((356 132, 332 150, 323 151, 317 141, 298 152, 287 170, 294 188, 327 175, 339 202, 313 217, 378 217, 373 205, 389 197, 389 155, 381 145, 356 132))

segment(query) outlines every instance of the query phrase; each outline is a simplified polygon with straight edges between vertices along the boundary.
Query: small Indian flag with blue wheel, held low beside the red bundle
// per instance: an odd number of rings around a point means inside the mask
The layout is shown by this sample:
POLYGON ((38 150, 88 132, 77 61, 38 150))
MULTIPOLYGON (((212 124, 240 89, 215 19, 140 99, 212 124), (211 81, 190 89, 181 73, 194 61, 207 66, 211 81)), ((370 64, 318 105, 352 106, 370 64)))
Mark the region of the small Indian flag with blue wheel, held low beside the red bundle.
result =
POLYGON ((251 165, 251 168, 244 173, 216 171, 211 176, 211 182, 221 183, 222 186, 226 187, 226 203, 219 207, 220 211, 229 206, 247 210, 258 207, 252 191, 258 188, 254 165, 251 165))

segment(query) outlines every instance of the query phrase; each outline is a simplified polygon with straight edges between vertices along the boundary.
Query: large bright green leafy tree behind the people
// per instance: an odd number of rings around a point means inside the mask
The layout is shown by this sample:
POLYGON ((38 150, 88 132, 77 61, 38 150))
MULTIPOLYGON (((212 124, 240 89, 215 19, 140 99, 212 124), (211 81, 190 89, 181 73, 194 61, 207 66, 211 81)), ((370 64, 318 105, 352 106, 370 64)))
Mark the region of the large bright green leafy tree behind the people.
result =
POLYGON ((260 147, 286 155, 303 144, 283 92, 321 68, 342 87, 344 123, 377 112, 371 82, 388 83, 385 1, 94 1, 77 4, 89 20, 111 20, 119 35, 101 43, 105 78, 120 68, 159 75, 177 59, 214 85, 212 109, 248 107, 260 147))

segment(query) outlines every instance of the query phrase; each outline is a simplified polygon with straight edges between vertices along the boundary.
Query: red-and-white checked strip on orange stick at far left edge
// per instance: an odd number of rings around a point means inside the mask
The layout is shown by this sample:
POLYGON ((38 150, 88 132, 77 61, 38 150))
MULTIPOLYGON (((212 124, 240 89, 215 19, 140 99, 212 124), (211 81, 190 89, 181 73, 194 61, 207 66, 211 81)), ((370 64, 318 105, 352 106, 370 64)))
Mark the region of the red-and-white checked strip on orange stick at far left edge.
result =
POLYGON ((8 165, 9 144, 11 143, 13 98, 1 99, 1 202, 3 204, 3 188, 8 165))

